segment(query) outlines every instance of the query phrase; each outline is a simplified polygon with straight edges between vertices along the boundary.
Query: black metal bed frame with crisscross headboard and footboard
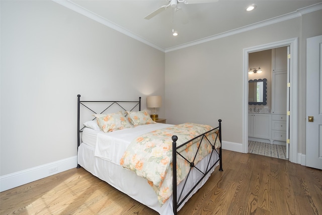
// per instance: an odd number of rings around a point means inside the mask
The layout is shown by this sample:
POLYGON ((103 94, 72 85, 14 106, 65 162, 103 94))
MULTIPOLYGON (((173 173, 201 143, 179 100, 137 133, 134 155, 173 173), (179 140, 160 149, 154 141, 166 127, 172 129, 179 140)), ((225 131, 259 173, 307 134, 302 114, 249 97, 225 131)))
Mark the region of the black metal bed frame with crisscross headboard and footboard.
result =
MULTIPOLYGON (((134 103, 134 107, 129 110, 129 111, 132 111, 135 107, 137 107, 137 105, 139 106, 139 111, 141 110, 141 97, 139 97, 139 101, 81 101, 81 95, 77 95, 77 150, 78 150, 78 147, 79 145, 81 144, 80 142, 80 135, 81 135, 81 132, 83 132, 83 129, 85 128, 82 127, 79 125, 80 123, 80 107, 81 105, 84 106, 85 108, 89 109, 91 112, 95 113, 95 111, 93 111, 91 108, 89 108, 88 106, 85 105, 85 103, 112 103, 110 104, 109 106, 107 106, 102 112, 100 113, 104 113, 108 108, 110 108, 112 105, 116 104, 118 105, 120 108, 122 108, 124 111, 127 111, 126 109, 124 109, 124 107, 122 107, 122 105, 120 105, 120 103, 134 103)), ((95 119, 95 118, 94 118, 95 119)), ((93 119, 93 120, 94 120, 93 119)), ((180 194, 179 194, 179 198, 178 198, 178 190, 177 190, 177 168, 173 168, 173 212, 174 214, 176 215, 177 214, 177 209, 178 207, 180 207, 180 205, 185 201, 185 199, 191 194, 191 192, 198 186, 198 184, 202 181, 202 179, 204 177, 206 177, 206 175, 211 171, 211 169, 219 162, 219 171, 223 171, 222 170, 222 152, 221 152, 221 147, 219 148, 219 150, 216 150, 215 149, 215 146, 214 146, 214 143, 216 141, 217 138, 219 138, 219 141, 220 141, 220 144, 222 145, 222 142, 221 142, 221 119, 218 120, 219 122, 219 126, 216 127, 216 128, 213 128, 212 130, 210 131, 207 131, 203 134, 200 134, 199 136, 196 136, 194 137, 193 139, 185 142, 184 144, 182 144, 181 146, 178 146, 177 147, 177 140, 178 140, 178 136, 176 135, 173 135, 172 136, 172 140, 173 140, 173 144, 172 144, 172 150, 173 152, 173 167, 176 167, 177 166, 177 155, 182 157, 184 160, 186 160, 189 164, 190 164, 190 171, 185 179, 185 182, 184 185, 183 185, 183 188, 181 189, 180 191, 180 194), (207 134, 209 132, 212 132, 214 130, 218 129, 218 132, 217 132, 217 136, 215 137, 215 140, 214 142, 212 143, 208 138, 207 138, 207 134), (208 161, 208 165, 207 165, 207 168, 205 170, 200 170, 198 169, 195 164, 194 164, 194 160, 198 154, 198 150, 196 152, 196 154, 194 155, 194 158, 193 158, 193 161, 189 161, 188 159, 186 159, 184 156, 182 156, 179 152, 178 152, 178 149, 184 147, 185 145, 187 145, 189 142, 191 142, 192 140, 196 139, 196 138, 201 138, 200 142, 204 139, 205 141, 208 142, 208 144, 211 145, 212 147, 212 152, 211 152, 211 156, 209 157, 209 161, 208 161), (219 152, 218 152, 219 151, 219 152), (215 163, 213 164, 210 164, 210 161, 211 161, 211 157, 213 154, 217 153, 219 158, 215 161, 215 163), (185 188, 185 185, 186 185, 186 182, 189 178, 189 175, 190 175, 190 172, 191 170, 195 168, 197 169, 201 174, 202 174, 202 177, 199 179, 199 181, 193 186, 193 188, 185 195, 185 196, 182 196, 183 194, 183 191, 184 191, 184 188, 185 188)), ((201 144, 200 144, 201 145, 201 144)), ((200 147, 199 145, 199 147, 200 147)), ((80 168, 81 166, 79 164, 77 164, 77 168, 80 168)))

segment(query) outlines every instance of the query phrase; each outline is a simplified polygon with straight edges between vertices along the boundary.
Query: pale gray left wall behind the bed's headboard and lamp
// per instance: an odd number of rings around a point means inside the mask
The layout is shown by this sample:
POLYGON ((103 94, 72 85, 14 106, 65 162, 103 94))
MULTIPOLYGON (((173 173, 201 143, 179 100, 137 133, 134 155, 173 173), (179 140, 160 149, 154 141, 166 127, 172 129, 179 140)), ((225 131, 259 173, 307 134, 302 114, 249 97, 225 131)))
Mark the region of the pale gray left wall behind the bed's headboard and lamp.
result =
POLYGON ((1 176, 76 155, 77 94, 165 97, 164 52, 51 1, 1 1, 1 45, 1 176))

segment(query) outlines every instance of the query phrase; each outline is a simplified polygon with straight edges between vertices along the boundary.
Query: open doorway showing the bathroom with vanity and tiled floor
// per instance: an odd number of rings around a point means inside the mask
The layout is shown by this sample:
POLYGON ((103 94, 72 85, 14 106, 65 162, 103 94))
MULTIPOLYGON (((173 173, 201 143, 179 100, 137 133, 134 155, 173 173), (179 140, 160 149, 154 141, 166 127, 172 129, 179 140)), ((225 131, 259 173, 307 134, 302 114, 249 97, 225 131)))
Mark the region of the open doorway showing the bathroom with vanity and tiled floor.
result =
POLYGON ((287 56, 288 46, 249 53, 248 153, 289 159, 287 56))

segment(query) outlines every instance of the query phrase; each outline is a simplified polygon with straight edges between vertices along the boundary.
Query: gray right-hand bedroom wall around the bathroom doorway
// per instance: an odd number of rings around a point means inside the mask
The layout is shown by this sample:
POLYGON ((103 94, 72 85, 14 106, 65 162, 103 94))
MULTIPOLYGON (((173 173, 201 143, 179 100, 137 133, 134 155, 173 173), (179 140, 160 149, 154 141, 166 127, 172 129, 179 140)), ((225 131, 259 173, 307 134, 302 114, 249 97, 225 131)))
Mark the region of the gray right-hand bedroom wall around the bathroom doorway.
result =
MULTIPOLYGON (((243 143, 243 49, 299 38, 298 153, 305 154, 306 38, 322 34, 322 11, 166 53, 166 117, 217 125, 243 143)), ((246 99, 246 98, 245 98, 246 99)))

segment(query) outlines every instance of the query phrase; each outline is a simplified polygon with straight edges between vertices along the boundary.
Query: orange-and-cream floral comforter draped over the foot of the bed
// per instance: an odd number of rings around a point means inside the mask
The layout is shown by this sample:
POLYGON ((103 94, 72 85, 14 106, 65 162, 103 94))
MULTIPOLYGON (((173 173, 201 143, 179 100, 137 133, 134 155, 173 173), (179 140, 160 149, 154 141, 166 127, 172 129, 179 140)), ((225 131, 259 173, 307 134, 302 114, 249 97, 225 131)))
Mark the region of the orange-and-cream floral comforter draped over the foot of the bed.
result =
MULTIPOLYGON (((164 129, 145 133, 134 139, 120 160, 121 166, 135 172, 138 176, 146 178, 156 192, 160 205, 163 205, 172 195, 172 136, 177 135, 177 147, 190 139, 213 129, 210 125, 184 123, 164 129)), ((207 134, 213 144, 218 129, 207 134)), ((196 165, 212 151, 208 140, 201 137, 189 142, 180 152, 187 160, 192 161, 201 144, 194 164, 196 165)), ((220 148, 219 136, 215 148, 220 148)), ((189 173, 190 164, 177 156, 177 184, 189 173)))

